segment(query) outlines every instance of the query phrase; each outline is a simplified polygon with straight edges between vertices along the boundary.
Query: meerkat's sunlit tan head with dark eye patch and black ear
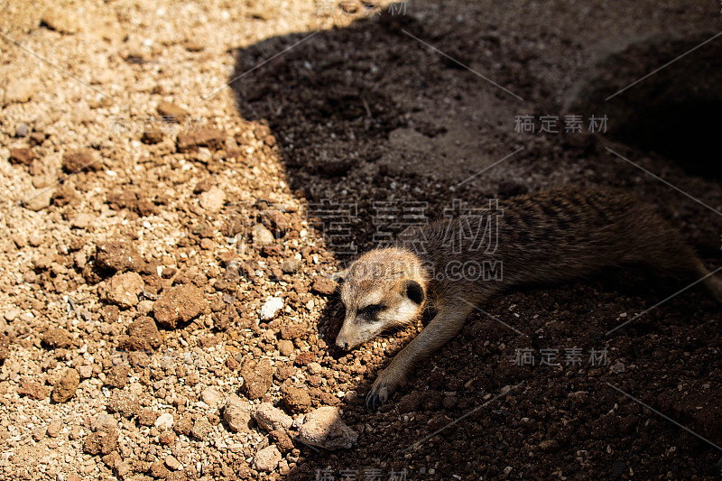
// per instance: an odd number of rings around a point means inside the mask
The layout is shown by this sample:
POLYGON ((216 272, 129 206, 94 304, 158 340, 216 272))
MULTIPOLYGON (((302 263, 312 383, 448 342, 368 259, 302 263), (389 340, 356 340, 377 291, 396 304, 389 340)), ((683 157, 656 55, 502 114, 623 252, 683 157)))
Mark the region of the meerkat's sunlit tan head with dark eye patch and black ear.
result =
POLYGON ((336 345, 344 349, 412 322, 426 301, 421 261, 404 249, 375 249, 335 277, 342 282, 341 301, 346 307, 336 345))

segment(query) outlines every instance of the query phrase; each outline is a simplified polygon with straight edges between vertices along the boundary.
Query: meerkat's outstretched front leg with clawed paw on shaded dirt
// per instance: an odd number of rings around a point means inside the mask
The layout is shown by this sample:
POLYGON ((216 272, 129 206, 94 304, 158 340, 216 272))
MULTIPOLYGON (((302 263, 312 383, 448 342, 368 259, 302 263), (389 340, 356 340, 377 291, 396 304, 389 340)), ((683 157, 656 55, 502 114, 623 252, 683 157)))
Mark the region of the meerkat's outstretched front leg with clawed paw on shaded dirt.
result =
POLYGON ((474 305, 474 302, 456 301, 437 306, 437 314, 429 325, 376 377, 371 391, 366 395, 366 406, 376 409, 377 405, 388 401, 416 363, 458 334, 474 305))

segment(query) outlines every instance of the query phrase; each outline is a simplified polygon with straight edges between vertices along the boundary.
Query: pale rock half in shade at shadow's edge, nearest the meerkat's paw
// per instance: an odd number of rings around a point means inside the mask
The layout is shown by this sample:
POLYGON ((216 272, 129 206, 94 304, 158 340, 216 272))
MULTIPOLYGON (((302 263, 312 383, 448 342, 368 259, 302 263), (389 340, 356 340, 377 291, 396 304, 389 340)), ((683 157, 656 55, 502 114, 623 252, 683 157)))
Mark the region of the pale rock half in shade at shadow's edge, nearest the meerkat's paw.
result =
POLYGON ((358 433, 341 421, 337 408, 323 406, 306 416, 299 437, 319 448, 351 449, 358 433))

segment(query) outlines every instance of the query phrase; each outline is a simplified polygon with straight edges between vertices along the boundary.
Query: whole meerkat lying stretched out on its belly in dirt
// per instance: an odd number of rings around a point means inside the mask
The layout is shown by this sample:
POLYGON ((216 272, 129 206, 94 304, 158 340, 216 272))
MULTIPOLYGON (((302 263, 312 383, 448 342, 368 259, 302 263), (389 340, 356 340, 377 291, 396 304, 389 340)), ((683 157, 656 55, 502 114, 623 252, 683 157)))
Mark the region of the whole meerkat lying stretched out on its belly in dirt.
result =
POLYGON ((415 364, 456 336, 477 305, 520 284, 564 282, 608 266, 648 264, 703 278, 722 302, 722 281, 680 233, 624 192, 562 188, 495 207, 488 214, 413 228, 395 245, 363 254, 334 276, 346 308, 336 338, 343 349, 408 325, 429 307, 436 311, 376 377, 366 396, 372 409, 388 401, 415 364))

